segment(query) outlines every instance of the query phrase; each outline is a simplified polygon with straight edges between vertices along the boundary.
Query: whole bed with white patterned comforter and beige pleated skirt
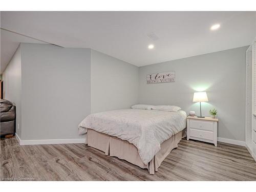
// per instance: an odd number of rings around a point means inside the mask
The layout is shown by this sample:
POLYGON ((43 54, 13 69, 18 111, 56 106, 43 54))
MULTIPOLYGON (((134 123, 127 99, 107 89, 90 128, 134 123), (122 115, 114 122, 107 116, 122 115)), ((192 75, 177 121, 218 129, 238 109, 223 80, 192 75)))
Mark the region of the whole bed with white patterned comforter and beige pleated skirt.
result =
POLYGON ((79 130, 88 146, 155 174, 165 157, 185 136, 186 113, 124 109, 87 116, 79 130))

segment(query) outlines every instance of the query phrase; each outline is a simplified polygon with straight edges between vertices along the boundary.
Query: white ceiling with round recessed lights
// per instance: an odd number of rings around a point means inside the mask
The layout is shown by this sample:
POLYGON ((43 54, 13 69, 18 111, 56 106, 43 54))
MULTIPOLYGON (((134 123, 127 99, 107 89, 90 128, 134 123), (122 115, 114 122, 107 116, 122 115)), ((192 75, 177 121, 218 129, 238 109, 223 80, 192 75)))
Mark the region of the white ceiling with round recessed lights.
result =
MULTIPOLYGON (((1 27, 145 66, 249 45, 256 34, 255 19, 255 12, 1 12, 1 27), (217 23, 220 29, 211 31, 211 25, 217 23), (158 39, 152 40, 149 33, 158 39), (149 44, 155 48, 148 50, 149 44)), ((14 34, 1 32, 6 52, 2 56, 1 50, 2 67, 2 60, 6 65, 14 53, 17 39, 14 34)))

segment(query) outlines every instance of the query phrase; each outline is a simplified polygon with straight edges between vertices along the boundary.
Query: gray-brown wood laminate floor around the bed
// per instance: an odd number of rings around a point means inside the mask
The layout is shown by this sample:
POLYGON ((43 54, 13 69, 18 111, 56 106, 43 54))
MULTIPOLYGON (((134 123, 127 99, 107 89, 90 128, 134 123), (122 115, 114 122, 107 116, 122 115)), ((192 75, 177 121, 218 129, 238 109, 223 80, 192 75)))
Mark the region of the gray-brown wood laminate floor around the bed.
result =
POLYGON ((86 144, 23 145, 1 140, 1 180, 229 181, 256 180, 256 163, 245 147, 181 140, 155 175, 86 144))

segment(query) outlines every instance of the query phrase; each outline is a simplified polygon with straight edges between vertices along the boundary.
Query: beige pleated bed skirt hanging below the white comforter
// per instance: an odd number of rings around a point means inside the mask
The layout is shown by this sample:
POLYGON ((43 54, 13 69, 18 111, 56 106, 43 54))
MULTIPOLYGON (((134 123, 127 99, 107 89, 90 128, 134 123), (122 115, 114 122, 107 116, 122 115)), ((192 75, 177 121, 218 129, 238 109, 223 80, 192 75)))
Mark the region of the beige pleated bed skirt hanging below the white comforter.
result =
POLYGON ((180 140, 185 137, 185 130, 177 133, 168 140, 161 144, 160 151, 154 156, 154 158, 148 163, 144 164, 141 160, 138 149, 128 141, 124 141, 114 136, 106 135, 88 129, 87 132, 87 144, 88 146, 97 148, 98 150, 110 155, 112 157, 118 157, 119 159, 126 160, 141 168, 147 168, 149 173, 154 175, 158 171, 158 167, 162 161, 169 155, 169 153, 178 147, 180 140))

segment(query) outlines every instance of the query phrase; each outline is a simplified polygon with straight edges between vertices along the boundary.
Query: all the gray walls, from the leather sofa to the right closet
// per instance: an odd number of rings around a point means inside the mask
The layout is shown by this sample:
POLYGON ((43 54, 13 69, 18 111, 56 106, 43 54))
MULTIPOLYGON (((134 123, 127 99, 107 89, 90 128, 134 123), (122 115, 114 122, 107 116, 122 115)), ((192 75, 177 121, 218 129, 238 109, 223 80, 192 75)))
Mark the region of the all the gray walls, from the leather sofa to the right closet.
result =
POLYGON ((247 47, 136 67, 90 49, 21 44, 5 72, 4 96, 16 103, 22 140, 77 139, 90 113, 136 103, 174 104, 199 114, 195 91, 206 91, 203 115, 218 110, 218 136, 245 140, 247 47), (146 84, 146 74, 176 72, 176 82, 146 84), (21 115, 23 114, 23 115, 21 115))

